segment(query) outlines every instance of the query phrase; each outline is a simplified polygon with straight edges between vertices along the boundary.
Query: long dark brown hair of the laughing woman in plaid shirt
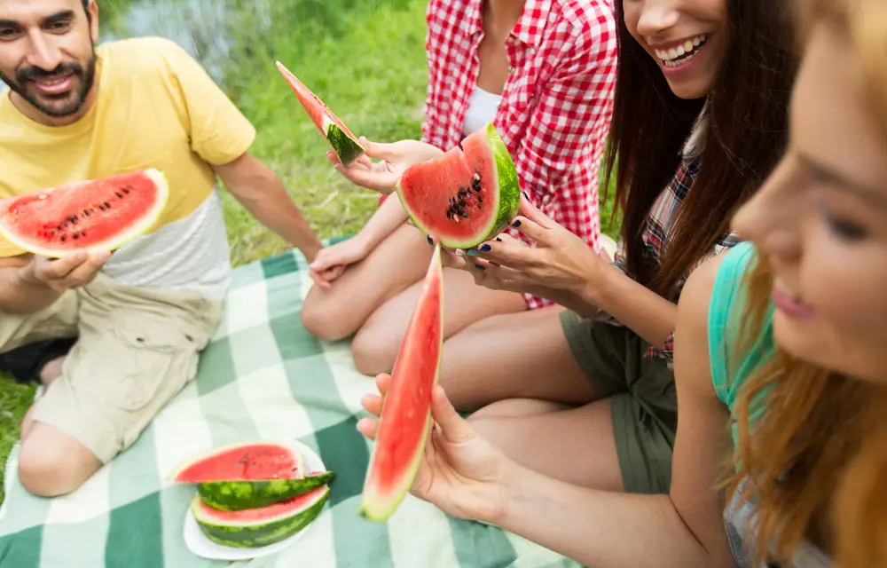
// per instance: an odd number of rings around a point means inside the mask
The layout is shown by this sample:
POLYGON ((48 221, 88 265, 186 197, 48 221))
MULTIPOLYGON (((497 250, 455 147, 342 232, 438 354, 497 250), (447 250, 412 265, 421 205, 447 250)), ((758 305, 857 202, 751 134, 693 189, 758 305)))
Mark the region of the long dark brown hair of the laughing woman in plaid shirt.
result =
POLYGON ((699 177, 656 265, 641 234, 653 202, 678 169, 704 99, 679 99, 671 92, 662 70, 625 27, 622 0, 615 4, 619 59, 605 187, 615 176, 629 270, 641 284, 670 297, 675 283, 728 233, 734 210, 757 190, 786 146, 797 69, 790 12, 778 0, 726 0, 728 25, 719 33, 727 47, 709 95, 699 177))

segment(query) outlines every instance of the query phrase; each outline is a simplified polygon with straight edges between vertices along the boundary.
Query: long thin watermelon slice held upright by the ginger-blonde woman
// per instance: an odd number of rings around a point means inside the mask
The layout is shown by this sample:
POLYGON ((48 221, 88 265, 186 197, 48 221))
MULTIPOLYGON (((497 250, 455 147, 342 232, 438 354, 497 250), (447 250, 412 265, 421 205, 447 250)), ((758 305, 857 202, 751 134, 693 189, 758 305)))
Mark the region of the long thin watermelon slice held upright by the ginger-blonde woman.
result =
POLYGON ((419 471, 431 426, 431 390, 443 352, 443 268, 434 255, 397 353, 358 513, 384 522, 404 500, 419 471))

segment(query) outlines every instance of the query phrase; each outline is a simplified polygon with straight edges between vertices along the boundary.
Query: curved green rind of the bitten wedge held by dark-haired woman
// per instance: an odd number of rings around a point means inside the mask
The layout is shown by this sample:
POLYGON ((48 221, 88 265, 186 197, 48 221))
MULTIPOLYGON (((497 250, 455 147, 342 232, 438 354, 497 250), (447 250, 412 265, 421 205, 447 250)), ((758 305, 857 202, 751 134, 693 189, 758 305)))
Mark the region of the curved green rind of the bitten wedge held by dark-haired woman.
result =
MULTIPOLYGON (((498 191, 491 192, 496 196, 496 214, 491 217, 486 227, 478 231, 477 236, 473 239, 459 241, 441 238, 440 242, 444 248, 475 248, 485 241, 490 241, 496 235, 505 231, 521 210, 521 182, 517 175, 517 168, 514 166, 514 160, 512 160, 511 154, 508 152, 508 147, 499 136, 492 122, 488 123, 484 129, 484 138, 486 138, 490 145, 493 162, 496 164, 498 191)), ((400 191, 399 185, 396 188, 396 192, 412 224, 422 233, 431 235, 432 232, 428 226, 423 224, 416 213, 410 209, 403 192, 400 191)), ((433 236, 437 237, 438 235, 433 236)))

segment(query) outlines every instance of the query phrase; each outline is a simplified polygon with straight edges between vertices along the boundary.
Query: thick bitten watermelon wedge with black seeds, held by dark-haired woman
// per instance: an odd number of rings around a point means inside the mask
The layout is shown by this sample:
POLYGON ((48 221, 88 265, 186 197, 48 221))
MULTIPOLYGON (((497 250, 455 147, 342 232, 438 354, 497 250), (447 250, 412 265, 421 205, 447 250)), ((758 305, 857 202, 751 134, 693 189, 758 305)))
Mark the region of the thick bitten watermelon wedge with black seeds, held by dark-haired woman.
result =
POLYGON ((492 124, 443 156, 412 165, 397 195, 413 225, 446 248, 475 248, 511 224, 521 185, 508 148, 492 124))

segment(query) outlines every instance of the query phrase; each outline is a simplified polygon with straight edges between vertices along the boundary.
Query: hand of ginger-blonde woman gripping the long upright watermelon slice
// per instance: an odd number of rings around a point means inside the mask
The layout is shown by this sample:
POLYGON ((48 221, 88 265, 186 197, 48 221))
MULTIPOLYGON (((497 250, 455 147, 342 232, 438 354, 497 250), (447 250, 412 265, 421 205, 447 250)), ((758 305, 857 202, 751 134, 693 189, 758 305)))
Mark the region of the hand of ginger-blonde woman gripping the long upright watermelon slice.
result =
MULTIPOLYGON (((382 396, 390 383, 390 375, 376 378, 382 396)), ((362 404, 378 417, 382 397, 366 395, 362 404)), ((440 385, 432 391, 431 416, 425 455, 411 493, 453 517, 496 523, 506 507, 504 487, 514 462, 459 416, 440 385)), ((376 418, 357 422, 357 430, 373 440, 378 427, 376 418)))

